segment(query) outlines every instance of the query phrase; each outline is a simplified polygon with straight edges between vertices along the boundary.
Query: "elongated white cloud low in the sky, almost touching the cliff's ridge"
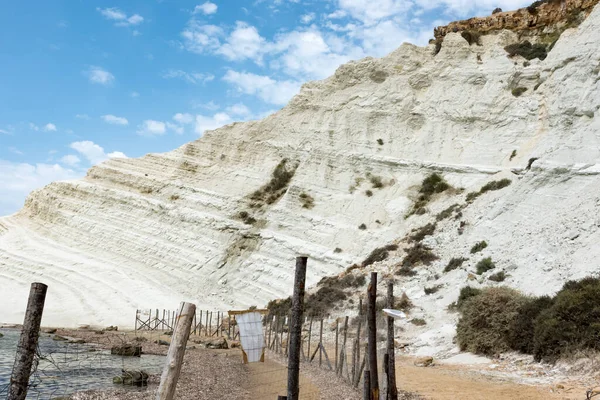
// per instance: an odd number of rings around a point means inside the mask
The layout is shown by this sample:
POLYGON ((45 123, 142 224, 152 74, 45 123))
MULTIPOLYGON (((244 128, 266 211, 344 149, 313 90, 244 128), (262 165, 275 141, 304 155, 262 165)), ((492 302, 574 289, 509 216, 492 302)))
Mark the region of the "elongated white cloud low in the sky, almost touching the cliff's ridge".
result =
POLYGON ((298 81, 276 81, 268 76, 247 72, 227 71, 223 80, 241 93, 256 95, 271 104, 286 104, 300 90, 298 81))

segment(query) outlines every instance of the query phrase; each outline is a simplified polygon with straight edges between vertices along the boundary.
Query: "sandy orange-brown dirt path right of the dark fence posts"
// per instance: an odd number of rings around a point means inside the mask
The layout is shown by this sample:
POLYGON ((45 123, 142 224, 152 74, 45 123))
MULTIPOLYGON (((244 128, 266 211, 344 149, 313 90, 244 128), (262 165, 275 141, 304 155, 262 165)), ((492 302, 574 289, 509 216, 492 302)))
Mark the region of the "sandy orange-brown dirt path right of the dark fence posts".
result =
POLYGON ((431 400, 583 400, 585 387, 562 385, 524 385, 481 373, 477 365, 416 367, 412 358, 397 359, 398 387, 431 400))

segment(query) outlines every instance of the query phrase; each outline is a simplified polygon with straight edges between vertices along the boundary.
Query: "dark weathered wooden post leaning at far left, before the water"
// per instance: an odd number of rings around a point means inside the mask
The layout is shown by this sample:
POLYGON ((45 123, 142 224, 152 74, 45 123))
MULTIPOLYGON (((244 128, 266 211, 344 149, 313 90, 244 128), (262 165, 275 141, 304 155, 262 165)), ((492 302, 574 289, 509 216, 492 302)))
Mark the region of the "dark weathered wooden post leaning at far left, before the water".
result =
POLYGON ((29 300, 25 311, 23 330, 17 346, 17 355, 13 366, 7 400, 25 400, 29 388, 31 366, 40 336, 40 324, 44 312, 48 286, 43 283, 32 283, 29 300))

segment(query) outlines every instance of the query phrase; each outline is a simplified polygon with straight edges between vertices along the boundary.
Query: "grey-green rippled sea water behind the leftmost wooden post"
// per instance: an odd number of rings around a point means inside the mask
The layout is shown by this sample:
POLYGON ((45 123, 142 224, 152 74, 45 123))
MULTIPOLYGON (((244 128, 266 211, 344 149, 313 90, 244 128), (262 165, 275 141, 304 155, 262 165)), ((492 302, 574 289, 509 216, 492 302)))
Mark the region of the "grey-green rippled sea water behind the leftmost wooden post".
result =
MULTIPOLYGON (((15 361, 20 331, 0 329, 0 398, 6 396, 15 361)), ((144 370, 160 374, 164 356, 142 355, 121 357, 90 344, 55 341, 40 336, 39 355, 34 362, 29 380, 28 399, 52 399, 82 390, 124 388, 113 385, 112 378, 121 376, 121 370, 144 370)), ((131 389, 140 390, 140 389, 131 389)))

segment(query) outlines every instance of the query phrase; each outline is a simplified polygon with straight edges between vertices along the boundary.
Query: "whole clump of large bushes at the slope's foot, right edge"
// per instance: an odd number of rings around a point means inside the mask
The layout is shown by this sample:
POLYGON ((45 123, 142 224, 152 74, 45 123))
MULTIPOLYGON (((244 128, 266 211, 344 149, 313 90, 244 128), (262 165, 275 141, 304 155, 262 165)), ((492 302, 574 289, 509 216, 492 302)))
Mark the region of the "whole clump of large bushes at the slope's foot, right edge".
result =
POLYGON ((600 279, 569 281, 554 297, 527 297, 507 287, 463 288, 457 341, 462 350, 494 355, 516 350, 556 361, 600 350, 600 279))

